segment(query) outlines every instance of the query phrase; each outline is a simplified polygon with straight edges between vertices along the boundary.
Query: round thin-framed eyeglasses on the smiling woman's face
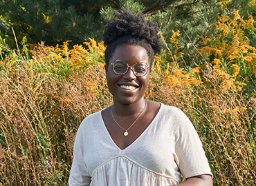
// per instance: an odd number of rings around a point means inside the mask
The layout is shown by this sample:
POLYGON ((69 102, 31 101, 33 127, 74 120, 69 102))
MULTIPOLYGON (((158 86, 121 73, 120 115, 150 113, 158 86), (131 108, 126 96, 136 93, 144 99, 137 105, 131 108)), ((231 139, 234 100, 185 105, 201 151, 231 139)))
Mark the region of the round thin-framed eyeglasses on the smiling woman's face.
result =
POLYGON ((136 63, 133 66, 129 66, 127 62, 116 60, 113 63, 110 63, 110 65, 113 65, 113 72, 115 72, 118 75, 125 74, 129 68, 132 69, 132 72, 134 72, 134 75, 137 77, 145 76, 147 74, 147 71, 149 70, 149 66, 147 63, 136 63))

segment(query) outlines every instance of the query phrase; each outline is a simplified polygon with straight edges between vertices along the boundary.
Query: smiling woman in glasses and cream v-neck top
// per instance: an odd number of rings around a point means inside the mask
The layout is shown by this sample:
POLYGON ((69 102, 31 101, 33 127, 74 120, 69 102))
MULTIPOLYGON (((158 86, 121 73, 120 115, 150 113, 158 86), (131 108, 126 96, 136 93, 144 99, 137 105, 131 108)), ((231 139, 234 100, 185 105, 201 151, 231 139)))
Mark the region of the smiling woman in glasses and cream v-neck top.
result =
POLYGON ((154 55, 163 47, 156 23, 142 14, 116 14, 103 34, 113 105, 82 121, 69 185, 212 185, 188 117, 176 107, 144 99, 154 55))

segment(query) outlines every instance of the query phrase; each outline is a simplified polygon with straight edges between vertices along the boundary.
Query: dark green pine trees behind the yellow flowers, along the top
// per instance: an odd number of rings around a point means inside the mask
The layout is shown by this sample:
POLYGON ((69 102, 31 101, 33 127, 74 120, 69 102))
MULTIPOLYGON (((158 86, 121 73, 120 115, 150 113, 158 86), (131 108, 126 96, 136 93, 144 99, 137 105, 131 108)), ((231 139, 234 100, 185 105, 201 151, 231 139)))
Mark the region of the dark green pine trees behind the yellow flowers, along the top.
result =
MULTIPOLYGON (((88 42, 89 38, 102 41, 104 25, 114 17, 114 10, 130 10, 135 14, 142 12, 146 19, 156 21, 171 49, 173 45, 169 39, 172 31, 179 30, 178 52, 183 53, 184 60, 178 55, 176 61, 180 61, 183 68, 185 65, 193 68, 205 64, 205 60, 194 53, 196 48, 205 45, 202 38, 213 39, 215 36, 216 28, 212 24, 217 21, 218 14, 232 17, 234 11, 239 10, 241 17, 247 19, 250 14, 255 19, 255 4, 254 0, 1 0, 0 36, 12 49, 17 49, 17 45, 20 48, 24 37, 27 43, 44 41, 50 46, 70 41, 69 48, 72 48, 88 42)), ((255 45, 255 33, 250 28, 244 31, 250 45, 255 45)), ((231 41, 232 37, 228 35, 225 42, 231 41)), ((216 57, 215 54, 208 56, 210 60, 216 57)), ((250 80, 256 79, 251 76, 250 80)))

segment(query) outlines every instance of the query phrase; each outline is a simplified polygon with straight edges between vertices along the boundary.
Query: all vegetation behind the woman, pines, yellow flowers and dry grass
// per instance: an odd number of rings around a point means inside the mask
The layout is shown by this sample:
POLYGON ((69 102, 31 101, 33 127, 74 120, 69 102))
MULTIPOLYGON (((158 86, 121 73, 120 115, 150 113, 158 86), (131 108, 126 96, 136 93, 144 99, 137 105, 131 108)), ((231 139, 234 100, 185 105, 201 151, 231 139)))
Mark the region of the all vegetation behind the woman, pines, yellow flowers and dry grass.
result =
POLYGON ((82 119, 112 104, 101 35, 114 11, 158 23, 146 98, 191 119, 214 185, 256 184, 255 0, 0 2, 0 185, 67 185, 82 119))

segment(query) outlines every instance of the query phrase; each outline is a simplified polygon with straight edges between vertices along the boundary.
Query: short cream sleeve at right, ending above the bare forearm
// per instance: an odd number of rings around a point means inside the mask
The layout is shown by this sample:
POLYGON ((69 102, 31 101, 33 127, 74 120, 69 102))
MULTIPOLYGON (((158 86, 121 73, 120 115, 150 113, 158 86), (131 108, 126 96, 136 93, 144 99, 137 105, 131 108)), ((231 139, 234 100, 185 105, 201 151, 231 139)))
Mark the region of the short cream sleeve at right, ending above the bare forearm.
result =
POLYGON ((175 122, 179 126, 175 130, 175 152, 181 174, 185 178, 212 175, 201 140, 188 116, 179 110, 175 122))

